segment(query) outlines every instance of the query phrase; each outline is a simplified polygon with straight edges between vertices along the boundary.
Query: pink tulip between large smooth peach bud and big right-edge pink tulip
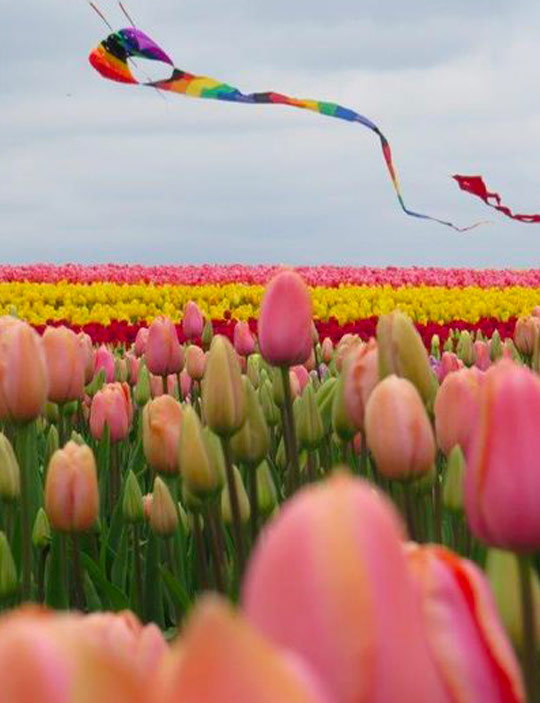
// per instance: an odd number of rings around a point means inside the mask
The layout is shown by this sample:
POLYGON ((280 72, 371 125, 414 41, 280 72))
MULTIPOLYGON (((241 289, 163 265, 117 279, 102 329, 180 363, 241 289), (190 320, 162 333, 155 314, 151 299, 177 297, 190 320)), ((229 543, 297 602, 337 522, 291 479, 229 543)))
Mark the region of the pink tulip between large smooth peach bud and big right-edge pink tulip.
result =
POLYGON ((467 448, 471 427, 480 411, 483 374, 475 367, 447 376, 435 397, 437 444, 448 455, 459 444, 467 448))

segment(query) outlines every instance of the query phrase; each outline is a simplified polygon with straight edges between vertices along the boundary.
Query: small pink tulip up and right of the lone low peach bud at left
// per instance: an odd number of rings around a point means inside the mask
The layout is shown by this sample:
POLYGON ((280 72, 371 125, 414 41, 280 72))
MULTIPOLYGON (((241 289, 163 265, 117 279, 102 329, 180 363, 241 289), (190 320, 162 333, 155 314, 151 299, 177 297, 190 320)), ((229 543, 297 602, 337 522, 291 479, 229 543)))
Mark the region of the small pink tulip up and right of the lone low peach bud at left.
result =
POLYGON ((101 439, 107 426, 111 442, 125 439, 129 433, 131 414, 131 397, 127 384, 108 383, 92 399, 90 408, 92 437, 101 439))

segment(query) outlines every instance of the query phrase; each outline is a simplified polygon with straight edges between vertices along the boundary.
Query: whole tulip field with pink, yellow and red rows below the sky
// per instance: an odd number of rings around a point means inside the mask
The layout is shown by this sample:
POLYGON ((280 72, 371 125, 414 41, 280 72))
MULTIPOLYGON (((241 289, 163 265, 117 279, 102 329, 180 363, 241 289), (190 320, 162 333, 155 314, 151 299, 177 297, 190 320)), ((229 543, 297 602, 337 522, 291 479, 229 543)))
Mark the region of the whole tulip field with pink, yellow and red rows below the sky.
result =
POLYGON ((1 703, 540 702, 540 270, 0 266, 1 703))

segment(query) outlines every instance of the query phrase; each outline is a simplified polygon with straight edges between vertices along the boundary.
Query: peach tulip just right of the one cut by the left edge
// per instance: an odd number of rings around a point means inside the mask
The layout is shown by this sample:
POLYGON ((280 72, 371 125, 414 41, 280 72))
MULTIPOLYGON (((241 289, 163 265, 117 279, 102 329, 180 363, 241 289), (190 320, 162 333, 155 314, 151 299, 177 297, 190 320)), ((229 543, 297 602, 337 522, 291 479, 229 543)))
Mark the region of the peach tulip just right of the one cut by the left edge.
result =
POLYGON ((82 346, 85 342, 67 327, 47 327, 42 340, 49 370, 49 400, 53 403, 78 400, 84 392, 89 358, 82 346))

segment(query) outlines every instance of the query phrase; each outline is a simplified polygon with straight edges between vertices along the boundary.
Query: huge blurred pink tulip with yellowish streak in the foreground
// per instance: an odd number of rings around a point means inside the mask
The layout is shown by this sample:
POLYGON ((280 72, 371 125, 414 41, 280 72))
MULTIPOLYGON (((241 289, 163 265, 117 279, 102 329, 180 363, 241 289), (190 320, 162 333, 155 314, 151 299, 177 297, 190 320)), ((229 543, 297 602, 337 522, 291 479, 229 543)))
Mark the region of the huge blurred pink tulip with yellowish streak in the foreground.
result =
POLYGON ((430 659, 402 535, 385 498, 335 475, 290 499, 255 548, 247 616, 301 656, 333 701, 451 701, 430 659))

